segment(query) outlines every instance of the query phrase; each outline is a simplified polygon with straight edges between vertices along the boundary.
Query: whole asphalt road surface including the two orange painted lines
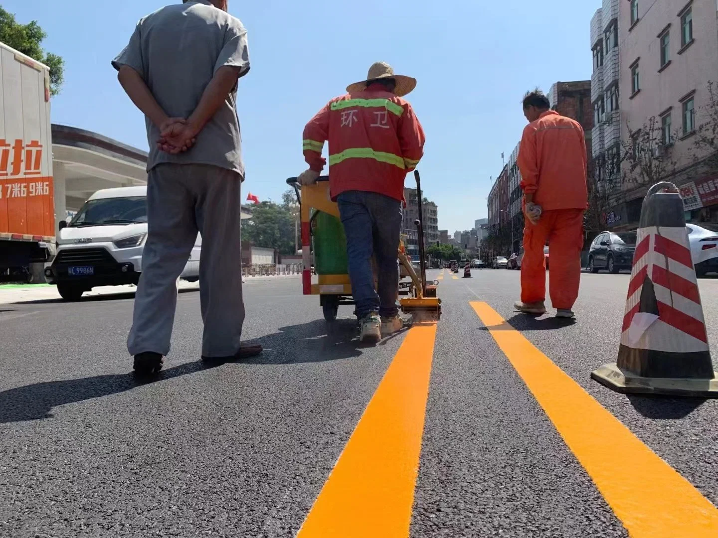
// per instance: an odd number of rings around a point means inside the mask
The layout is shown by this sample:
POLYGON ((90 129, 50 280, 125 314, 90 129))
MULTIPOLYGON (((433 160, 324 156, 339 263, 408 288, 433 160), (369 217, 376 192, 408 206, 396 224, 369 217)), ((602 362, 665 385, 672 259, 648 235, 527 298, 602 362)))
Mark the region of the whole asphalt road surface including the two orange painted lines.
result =
POLYGON ((441 321, 376 347, 297 278, 248 284, 264 354, 216 367, 182 293, 154 382, 129 373, 132 296, 0 305, 0 536, 718 536, 718 401, 589 377, 629 275, 582 275, 575 323, 515 313, 517 271, 472 275, 430 272, 441 321))

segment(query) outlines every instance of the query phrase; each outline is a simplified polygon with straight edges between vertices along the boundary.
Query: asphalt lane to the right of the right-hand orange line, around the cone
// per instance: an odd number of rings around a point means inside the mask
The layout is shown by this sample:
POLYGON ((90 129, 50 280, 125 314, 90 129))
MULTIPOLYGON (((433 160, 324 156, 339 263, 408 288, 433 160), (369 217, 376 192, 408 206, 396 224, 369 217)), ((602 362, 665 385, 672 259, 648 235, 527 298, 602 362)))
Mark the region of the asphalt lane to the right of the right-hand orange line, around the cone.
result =
MULTIPOLYGON (((472 300, 486 301, 648 447, 718 505, 718 400, 625 396, 590 379, 615 362, 630 275, 582 275, 575 323, 513 311, 519 273, 481 270, 462 280, 472 300)), ((446 285, 444 285, 446 287, 446 285)), ((718 279, 699 279, 709 344, 718 342, 718 279)), ((549 306, 550 301, 547 302, 549 306)), ((549 311, 551 314, 551 311, 549 311)), ((714 367, 718 355, 713 350, 714 367)))

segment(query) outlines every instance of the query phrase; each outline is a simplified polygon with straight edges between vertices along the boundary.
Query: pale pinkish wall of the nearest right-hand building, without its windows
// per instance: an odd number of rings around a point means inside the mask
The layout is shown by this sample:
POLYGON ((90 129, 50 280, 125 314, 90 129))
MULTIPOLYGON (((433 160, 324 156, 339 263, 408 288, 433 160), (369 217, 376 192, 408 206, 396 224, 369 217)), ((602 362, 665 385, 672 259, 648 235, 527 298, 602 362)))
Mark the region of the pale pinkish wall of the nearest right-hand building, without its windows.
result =
MULTIPOLYGON (((694 0, 691 3, 694 42, 681 49, 679 13, 688 4, 687 0, 661 0, 651 4, 638 1, 638 22, 632 26, 630 2, 621 1, 619 18, 622 136, 628 137, 628 126, 635 130, 652 116, 660 122, 661 115, 670 115, 671 126, 678 131, 678 136, 666 154, 676 161, 679 171, 705 156, 693 147, 693 136, 683 136, 682 101, 694 99, 695 124, 700 125, 701 111, 709 102, 708 82, 718 81, 717 2, 694 0), (669 35, 670 62, 663 69, 659 38, 662 32, 669 35), (637 61, 639 90, 634 93, 631 68, 637 61)), ((705 115, 702 121, 704 118, 705 115)))

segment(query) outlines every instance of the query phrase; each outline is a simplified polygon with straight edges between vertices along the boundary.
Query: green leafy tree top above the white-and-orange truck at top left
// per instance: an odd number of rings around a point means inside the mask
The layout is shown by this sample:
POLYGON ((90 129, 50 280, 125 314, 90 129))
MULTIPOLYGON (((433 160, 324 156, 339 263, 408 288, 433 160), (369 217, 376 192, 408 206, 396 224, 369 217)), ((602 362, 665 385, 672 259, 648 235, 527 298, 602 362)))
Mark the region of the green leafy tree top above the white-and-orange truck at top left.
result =
POLYGON ((42 49, 45 37, 47 34, 37 21, 20 24, 14 14, 0 7, 0 42, 50 67, 50 93, 57 95, 62 86, 65 60, 42 49))

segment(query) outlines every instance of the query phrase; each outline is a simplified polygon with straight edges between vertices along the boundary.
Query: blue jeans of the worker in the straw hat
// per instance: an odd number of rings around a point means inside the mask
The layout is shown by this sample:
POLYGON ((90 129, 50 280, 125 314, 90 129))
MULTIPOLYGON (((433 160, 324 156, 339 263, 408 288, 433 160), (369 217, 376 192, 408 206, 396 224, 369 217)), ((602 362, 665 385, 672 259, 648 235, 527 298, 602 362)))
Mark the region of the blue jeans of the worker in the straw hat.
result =
POLYGON ((337 204, 347 236, 349 278, 358 318, 370 312, 396 316, 401 202, 376 192, 347 191, 337 197, 337 204), (378 293, 372 255, 378 268, 378 293))

